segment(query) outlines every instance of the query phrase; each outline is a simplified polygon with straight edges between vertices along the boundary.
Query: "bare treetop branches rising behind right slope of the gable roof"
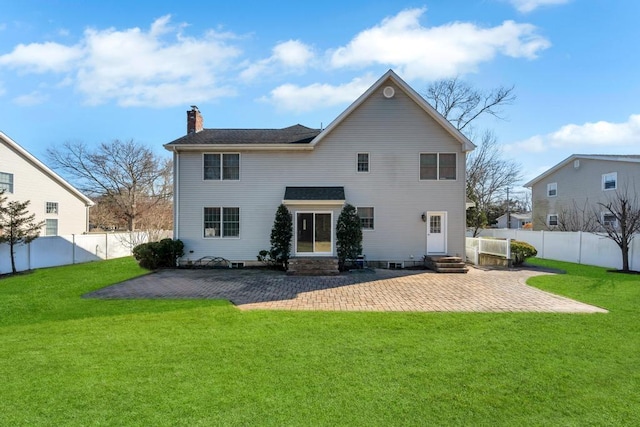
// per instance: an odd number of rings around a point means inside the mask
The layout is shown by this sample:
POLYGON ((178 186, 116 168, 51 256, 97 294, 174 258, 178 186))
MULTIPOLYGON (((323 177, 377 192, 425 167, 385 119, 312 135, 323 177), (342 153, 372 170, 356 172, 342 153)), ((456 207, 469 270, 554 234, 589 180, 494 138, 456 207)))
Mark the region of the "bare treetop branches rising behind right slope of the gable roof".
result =
POLYGON ((499 86, 482 92, 455 77, 432 83, 425 98, 459 131, 468 131, 467 126, 483 115, 502 119, 502 107, 516 100, 514 89, 499 86))

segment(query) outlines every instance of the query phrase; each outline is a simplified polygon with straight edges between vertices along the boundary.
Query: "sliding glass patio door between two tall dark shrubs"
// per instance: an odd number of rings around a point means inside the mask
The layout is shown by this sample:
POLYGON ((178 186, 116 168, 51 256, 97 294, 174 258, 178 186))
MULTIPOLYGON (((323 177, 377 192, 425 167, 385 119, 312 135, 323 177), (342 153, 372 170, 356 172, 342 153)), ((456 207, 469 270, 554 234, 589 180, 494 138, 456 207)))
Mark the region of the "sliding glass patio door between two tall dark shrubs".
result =
POLYGON ((330 212, 296 213, 296 253, 332 254, 332 214, 330 212))

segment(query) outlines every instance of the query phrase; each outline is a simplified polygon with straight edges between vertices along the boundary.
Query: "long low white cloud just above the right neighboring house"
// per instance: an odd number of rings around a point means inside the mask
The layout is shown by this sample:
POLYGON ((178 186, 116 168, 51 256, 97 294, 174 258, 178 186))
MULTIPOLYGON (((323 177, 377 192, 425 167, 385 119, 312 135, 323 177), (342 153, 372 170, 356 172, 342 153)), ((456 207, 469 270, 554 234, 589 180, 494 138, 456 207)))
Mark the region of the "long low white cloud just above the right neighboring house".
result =
POLYGON ((608 152, 613 147, 640 145, 640 114, 632 114, 626 122, 587 122, 568 124, 546 135, 535 135, 524 141, 509 144, 509 151, 542 153, 550 149, 585 151, 600 149, 608 152), (579 149, 579 150, 576 150, 579 149))

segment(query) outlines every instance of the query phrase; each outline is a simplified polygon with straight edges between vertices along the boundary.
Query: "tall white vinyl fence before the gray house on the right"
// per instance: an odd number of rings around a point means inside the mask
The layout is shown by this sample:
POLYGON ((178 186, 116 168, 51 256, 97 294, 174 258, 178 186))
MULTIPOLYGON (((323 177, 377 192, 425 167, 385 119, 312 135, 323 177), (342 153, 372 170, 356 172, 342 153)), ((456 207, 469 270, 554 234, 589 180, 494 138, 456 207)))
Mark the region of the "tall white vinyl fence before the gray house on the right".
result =
MULTIPOLYGON (((622 268, 620 248, 603 234, 582 231, 486 229, 481 230, 480 235, 527 242, 536 248, 539 258, 622 268)), ((640 270, 640 235, 636 235, 629 249, 629 268, 640 270)))

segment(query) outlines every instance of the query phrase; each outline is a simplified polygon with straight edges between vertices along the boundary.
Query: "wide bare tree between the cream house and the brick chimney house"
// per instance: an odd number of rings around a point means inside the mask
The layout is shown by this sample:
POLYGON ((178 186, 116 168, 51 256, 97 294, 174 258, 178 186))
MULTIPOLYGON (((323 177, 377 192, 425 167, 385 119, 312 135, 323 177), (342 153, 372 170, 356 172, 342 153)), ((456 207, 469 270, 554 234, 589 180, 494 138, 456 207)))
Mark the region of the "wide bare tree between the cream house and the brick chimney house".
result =
POLYGON ((65 143, 48 149, 47 156, 79 189, 110 206, 129 231, 152 207, 171 198, 171 160, 133 140, 114 140, 95 149, 65 143))

